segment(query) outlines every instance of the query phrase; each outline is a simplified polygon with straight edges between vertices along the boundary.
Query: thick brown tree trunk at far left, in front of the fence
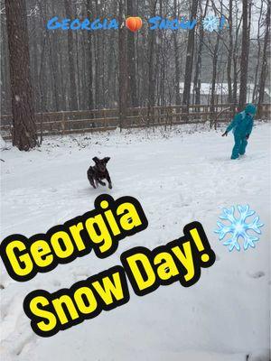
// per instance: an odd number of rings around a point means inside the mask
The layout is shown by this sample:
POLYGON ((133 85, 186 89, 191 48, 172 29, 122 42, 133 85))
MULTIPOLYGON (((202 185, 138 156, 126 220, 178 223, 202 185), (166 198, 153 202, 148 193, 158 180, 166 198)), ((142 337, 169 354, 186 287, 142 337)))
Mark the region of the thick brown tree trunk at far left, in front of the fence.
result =
POLYGON ((20 151, 37 145, 24 0, 5 0, 13 111, 13 144, 20 151))

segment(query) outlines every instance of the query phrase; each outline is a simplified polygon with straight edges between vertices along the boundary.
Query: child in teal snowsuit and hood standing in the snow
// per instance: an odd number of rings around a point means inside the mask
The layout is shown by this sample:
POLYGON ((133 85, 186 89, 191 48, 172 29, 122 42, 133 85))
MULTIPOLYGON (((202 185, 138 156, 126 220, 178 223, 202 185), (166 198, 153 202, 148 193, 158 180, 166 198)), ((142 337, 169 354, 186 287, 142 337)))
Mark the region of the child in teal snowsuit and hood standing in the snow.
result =
POLYGON ((226 132, 222 134, 222 136, 227 136, 231 129, 233 129, 235 143, 232 149, 231 159, 237 159, 239 155, 245 154, 256 110, 256 106, 248 104, 243 112, 234 116, 226 132))

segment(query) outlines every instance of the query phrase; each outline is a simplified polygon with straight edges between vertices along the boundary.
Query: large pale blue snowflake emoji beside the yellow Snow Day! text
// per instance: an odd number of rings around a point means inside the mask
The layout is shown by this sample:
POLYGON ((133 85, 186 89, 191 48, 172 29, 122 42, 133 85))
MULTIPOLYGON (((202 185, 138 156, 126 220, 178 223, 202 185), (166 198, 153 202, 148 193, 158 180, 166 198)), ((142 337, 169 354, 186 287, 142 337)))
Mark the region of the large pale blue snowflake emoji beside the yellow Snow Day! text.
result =
POLYGON ((220 240, 223 239, 226 235, 229 235, 229 238, 225 240, 223 245, 229 246, 229 252, 234 248, 238 251, 240 250, 240 245, 238 244, 238 238, 243 239, 244 250, 246 251, 248 247, 255 248, 255 242, 259 240, 257 236, 251 235, 254 232, 258 235, 261 234, 260 227, 263 227, 263 223, 260 222, 258 217, 253 218, 250 223, 246 222, 246 219, 255 214, 254 210, 249 209, 249 206, 237 206, 238 208, 238 217, 235 217, 235 207, 224 208, 220 219, 225 219, 229 222, 229 225, 218 222, 218 229, 215 230, 215 233, 220 235, 220 240))

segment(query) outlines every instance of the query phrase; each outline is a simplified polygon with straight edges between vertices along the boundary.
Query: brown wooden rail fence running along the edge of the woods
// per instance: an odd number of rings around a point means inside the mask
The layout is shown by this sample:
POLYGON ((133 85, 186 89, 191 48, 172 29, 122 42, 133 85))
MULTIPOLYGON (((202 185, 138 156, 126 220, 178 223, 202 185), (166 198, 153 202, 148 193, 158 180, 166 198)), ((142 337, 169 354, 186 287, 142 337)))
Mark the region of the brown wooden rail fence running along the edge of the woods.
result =
MULTIPOLYGON (((210 122, 229 122, 237 111, 236 106, 220 104, 189 106, 154 106, 128 108, 123 128, 164 125, 180 125, 210 122)), ((257 118, 270 119, 271 106, 257 107, 257 118)), ((4 139, 11 139, 12 116, 0 116, 0 131, 4 139)), ((39 135, 89 133, 114 130, 119 127, 118 109, 95 109, 37 113, 35 115, 39 135)))

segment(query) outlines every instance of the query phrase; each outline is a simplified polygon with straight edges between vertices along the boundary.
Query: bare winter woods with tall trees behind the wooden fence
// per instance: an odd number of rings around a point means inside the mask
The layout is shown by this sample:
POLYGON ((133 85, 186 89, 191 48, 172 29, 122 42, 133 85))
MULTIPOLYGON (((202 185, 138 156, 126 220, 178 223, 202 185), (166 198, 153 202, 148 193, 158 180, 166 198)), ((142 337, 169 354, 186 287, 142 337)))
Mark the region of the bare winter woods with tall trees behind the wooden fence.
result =
POLYGON ((36 145, 34 113, 118 108, 121 126, 128 107, 269 102, 269 0, 2 0, 1 9, 1 115, 13 114, 20 149, 36 145), (128 16, 142 18, 140 31, 126 28, 128 16), (196 25, 151 30, 155 16, 196 25), (118 30, 48 30, 53 17, 117 19, 118 30))

